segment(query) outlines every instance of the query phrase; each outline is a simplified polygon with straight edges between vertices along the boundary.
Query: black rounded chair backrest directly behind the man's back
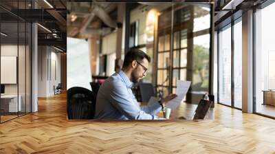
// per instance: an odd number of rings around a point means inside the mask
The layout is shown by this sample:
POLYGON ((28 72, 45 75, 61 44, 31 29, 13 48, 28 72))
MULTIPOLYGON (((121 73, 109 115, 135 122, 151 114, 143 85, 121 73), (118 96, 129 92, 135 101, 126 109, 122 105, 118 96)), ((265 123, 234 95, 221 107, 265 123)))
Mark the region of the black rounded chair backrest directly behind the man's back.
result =
POLYGON ((96 99, 89 89, 72 87, 67 91, 68 119, 93 119, 96 99))

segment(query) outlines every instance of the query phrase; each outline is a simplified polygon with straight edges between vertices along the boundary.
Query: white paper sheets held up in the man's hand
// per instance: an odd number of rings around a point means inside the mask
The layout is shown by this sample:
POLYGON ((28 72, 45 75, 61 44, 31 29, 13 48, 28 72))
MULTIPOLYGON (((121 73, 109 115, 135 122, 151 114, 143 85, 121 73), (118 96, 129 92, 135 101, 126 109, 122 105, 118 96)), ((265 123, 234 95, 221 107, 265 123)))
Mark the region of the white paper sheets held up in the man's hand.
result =
POLYGON ((177 97, 167 102, 165 106, 172 110, 177 109, 179 104, 184 100, 184 97, 187 94, 190 84, 191 84, 191 81, 188 81, 188 80, 177 80, 177 89, 176 89, 177 97))

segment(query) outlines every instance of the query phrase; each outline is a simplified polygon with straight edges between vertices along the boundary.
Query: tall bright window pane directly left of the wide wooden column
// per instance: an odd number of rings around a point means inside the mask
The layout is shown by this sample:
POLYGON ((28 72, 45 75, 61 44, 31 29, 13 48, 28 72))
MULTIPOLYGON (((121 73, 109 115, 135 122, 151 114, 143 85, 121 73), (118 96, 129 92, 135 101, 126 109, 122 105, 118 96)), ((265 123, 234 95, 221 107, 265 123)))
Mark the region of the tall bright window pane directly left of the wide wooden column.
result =
POLYGON ((242 25, 234 25, 234 107, 242 108, 242 25))

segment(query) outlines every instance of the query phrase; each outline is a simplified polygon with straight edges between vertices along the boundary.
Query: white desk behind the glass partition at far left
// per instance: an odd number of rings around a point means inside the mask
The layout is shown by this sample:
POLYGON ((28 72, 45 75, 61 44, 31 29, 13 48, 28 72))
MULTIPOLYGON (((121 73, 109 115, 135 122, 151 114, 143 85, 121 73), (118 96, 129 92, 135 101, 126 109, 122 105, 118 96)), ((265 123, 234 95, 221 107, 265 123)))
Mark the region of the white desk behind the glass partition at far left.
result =
POLYGON ((17 112, 17 109, 18 111, 21 111, 21 95, 19 95, 18 98, 19 101, 17 105, 17 95, 1 96, 1 109, 3 109, 4 112, 17 112))

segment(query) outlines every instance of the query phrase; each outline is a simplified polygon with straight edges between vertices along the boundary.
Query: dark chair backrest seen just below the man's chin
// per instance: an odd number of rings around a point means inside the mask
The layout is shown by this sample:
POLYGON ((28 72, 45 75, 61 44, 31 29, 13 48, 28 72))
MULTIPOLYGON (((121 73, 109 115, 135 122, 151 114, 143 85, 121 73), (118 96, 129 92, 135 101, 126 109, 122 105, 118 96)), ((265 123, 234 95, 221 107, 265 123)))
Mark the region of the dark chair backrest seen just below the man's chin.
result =
POLYGON ((148 102, 151 96, 155 96, 155 89, 151 83, 140 83, 139 85, 142 102, 148 102))

